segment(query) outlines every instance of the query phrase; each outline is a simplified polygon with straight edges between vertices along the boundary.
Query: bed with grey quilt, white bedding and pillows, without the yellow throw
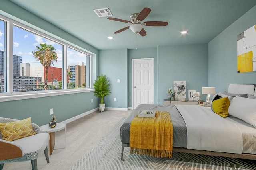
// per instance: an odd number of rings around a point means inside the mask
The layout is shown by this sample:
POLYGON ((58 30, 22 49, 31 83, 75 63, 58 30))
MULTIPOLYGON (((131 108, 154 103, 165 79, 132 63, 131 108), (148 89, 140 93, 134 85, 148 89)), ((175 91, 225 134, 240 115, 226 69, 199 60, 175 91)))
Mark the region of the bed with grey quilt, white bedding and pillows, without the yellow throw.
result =
POLYGON ((229 115, 222 117, 200 105, 139 105, 120 127, 124 147, 129 147, 130 124, 140 110, 168 111, 173 125, 173 151, 256 160, 256 85, 230 84, 217 93, 212 107, 223 104, 229 115), (222 103, 219 103, 219 102, 222 103), (199 125, 199 126, 198 126, 199 125))

